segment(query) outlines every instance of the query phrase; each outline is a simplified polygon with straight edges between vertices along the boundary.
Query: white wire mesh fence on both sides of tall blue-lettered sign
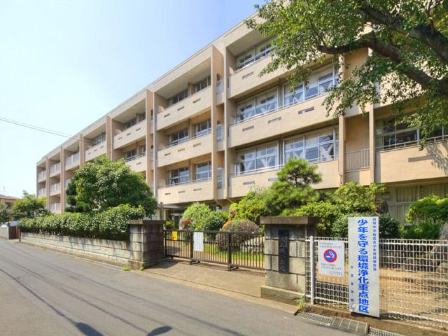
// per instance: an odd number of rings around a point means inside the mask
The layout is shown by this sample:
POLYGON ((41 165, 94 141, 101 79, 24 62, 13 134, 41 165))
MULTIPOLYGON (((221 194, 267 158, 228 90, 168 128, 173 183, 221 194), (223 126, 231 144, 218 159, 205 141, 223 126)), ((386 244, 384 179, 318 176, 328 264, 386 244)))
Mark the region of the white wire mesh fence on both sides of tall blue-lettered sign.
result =
MULTIPOLYGON (((348 309, 347 239, 308 237, 306 241, 307 297, 314 303, 348 309), (344 241, 344 277, 318 273, 321 240, 344 241)), ((381 316, 448 328, 448 241, 380 239, 379 267, 381 316)))

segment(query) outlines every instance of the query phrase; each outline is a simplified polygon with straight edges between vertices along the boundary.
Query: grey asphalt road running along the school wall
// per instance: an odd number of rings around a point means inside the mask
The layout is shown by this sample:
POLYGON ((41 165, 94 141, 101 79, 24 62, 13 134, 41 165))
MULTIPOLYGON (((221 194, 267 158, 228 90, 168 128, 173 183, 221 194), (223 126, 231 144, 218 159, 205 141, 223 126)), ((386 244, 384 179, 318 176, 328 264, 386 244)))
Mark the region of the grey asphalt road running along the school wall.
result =
POLYGON ((349 335, 235 297, 0 239, 0 335, 349 335))

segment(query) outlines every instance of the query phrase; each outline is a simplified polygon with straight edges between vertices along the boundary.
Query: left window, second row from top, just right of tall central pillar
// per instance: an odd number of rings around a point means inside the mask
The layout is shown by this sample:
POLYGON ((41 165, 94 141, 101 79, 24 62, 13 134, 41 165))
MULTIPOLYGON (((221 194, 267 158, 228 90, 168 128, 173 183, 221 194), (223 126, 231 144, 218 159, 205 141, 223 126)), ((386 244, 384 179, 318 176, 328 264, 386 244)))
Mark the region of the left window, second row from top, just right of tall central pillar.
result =
POLYGON ((237 103, 235 123, 241 123, 241 121, 274 111, 277 108, 277 104, 277 90, 264 92, 244 102, 237 103))

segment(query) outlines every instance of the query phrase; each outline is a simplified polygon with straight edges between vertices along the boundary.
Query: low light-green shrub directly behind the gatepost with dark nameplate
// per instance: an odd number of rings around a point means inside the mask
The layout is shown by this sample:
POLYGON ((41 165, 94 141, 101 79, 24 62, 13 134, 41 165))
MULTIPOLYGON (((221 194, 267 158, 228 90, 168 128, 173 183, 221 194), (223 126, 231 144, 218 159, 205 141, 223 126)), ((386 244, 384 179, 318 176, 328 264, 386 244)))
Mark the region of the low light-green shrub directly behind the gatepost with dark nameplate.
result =
POLYGON ((342 212, 337 204, 321 201, 308 203, 297 209, 284 210, 281 216, 318 216, 320 223, 317 225, 317 234, 326 237, 330 235, 333 223, 342 216, 342 212))

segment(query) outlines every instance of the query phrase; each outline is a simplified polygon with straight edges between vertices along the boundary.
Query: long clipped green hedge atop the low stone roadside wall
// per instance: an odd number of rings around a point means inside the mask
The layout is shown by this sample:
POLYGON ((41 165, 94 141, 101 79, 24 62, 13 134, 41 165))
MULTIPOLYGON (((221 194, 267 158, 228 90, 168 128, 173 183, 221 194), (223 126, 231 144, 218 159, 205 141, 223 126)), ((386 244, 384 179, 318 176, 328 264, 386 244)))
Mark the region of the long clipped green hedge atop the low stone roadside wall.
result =
POLYGON ((18 225, 22 232, 63 235, 82 238, 127 240, 130 219, 143 218, 142 207, 122 204, 95 214, 54 214, 50 216, 24 218, 18 225))

